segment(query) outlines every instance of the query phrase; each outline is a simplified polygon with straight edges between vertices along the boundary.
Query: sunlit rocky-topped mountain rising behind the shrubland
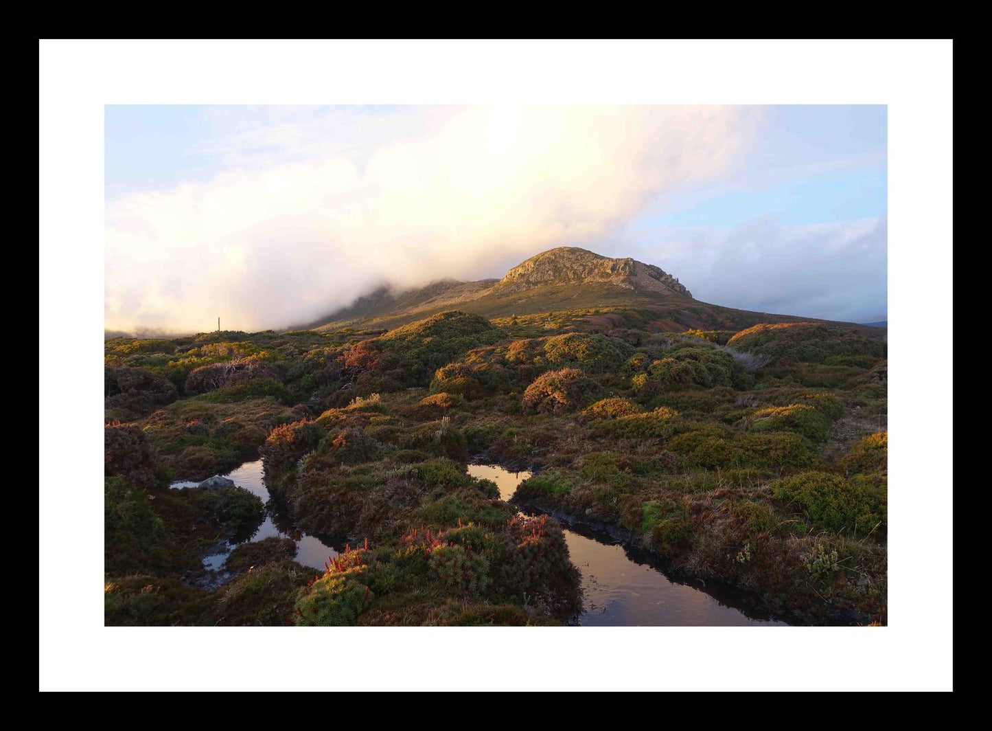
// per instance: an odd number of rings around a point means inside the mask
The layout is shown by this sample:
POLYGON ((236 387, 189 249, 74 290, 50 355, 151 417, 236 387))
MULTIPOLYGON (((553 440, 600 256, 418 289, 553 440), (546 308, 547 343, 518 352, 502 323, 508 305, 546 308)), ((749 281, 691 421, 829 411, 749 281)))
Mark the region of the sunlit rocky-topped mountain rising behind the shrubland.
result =
POLYGON ((306 328, 392 329, 455 309, 489 319, 556 313, 594 327, 664 332, 689 328, 736 332, 758 323, 809 320, 700 302, 676 277, 654 264, 559 246, 514 266, 500 280, 445 279, 408 290, 381 287, 306 328))

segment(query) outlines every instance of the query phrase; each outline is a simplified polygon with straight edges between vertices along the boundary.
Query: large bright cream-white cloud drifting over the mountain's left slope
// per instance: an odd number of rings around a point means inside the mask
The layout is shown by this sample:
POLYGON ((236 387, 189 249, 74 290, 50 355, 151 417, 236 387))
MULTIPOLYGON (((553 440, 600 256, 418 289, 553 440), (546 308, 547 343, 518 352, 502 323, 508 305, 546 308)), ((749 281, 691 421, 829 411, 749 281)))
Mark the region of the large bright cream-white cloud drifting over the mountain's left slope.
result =
POLYGON ((595 248, 649 200, 731 169, 759 115, 407 107, 274 119, 211 141, 225 169, 209 182, 108 203, 105 327, 200 331, 220 316, 278 328, 384 282, 498 276, 551 246, 595 248))

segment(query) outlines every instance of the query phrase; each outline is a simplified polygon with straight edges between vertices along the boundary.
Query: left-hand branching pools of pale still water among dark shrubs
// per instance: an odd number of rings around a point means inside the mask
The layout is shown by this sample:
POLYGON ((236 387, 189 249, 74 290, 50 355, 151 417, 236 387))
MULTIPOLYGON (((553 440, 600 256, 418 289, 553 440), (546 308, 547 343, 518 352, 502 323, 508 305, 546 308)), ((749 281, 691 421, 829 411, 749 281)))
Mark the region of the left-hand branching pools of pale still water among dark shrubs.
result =
MULTIPOLYGON (((292 538, 297 542, 297 558, 304 566, 323 570, 323 564, 328 556, 336 556, 337 551, 321 541, 315 535, 308 535, 296 528, 292 520, 278 510, 278 507, 269 499, 269 491, 265 487, 265 479, 262 475, 262 460, 255 462, 245 462, 241 467, 227 473, 223 477, 233 480, 234 484, 244 488, 250 493, 254 493, 262 499, 265 504, 265 521, 259 525, 258 529, 249 537, 225 541, 219 549, 203 558, 203 565, 211 571, 222 569, 227 555, 238 543, 254 542, 264 538, 292 538)), ((198 483, 178 482, 173 483, 172 488, 194 488, 198 483)))

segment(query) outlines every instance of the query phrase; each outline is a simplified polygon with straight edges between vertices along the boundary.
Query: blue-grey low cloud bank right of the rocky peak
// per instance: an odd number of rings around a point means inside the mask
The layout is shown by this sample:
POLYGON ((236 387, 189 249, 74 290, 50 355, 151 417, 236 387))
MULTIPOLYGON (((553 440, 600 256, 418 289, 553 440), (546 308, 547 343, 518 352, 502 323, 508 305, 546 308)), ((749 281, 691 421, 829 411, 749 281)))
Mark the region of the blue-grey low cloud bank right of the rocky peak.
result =
POLYGON ((650 235, 626 255, 674 273, 703 302, 846 322, 888 311, 886 217, 802 226, 768 218, 650 235))

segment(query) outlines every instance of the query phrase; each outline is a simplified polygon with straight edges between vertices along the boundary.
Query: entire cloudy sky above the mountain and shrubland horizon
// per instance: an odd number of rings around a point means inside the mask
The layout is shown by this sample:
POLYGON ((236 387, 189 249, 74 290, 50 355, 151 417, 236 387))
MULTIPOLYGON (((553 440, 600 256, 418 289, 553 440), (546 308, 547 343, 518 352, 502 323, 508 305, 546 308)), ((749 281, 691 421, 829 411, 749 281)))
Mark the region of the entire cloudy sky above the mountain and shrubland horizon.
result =
POLYGON ((105 107, 105 327, 300 325, 554 246, 887 317, 885 106, 105 107))

